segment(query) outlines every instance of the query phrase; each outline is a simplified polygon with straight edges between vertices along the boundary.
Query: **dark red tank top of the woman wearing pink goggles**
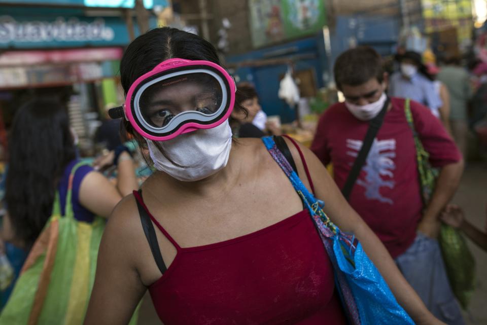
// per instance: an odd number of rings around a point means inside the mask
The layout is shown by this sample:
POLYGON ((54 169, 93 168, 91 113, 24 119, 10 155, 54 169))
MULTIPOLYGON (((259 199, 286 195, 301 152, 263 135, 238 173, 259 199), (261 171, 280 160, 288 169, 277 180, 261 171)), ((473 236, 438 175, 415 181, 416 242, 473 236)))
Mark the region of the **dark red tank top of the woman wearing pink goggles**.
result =
POLYGON ((140 193, 134 195, 177 249, 149 287, 164 325, 346 323, 331 262, 307 210, 248 235, 183 248, 140 193))

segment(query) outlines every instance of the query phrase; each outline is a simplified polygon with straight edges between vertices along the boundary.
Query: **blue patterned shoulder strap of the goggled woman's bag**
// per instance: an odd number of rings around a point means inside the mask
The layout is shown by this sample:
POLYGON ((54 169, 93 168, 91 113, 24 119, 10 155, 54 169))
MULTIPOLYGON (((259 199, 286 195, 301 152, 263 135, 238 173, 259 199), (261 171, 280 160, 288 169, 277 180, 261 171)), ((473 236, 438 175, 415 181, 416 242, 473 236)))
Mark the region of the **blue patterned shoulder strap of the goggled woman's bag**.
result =
POLYGON ((309 210, 309 213, 315 219, 315 223, 319 230, 327 237, 333 237, 338 234, 340 230, 336 227, 328 218, 328 215, 323 211, 321 206, 324 202, 318 200, 313 194, 311 194, 308 189, 304 186, 303 182, 299 178, 298 174, 294 171, 293 167, 283 155, 283 153, 277 148, 276 143, 270 136, 265 136, 262 138, 267 151, 270 153, 272 158, 277 162, 277 164, 284 171, 286 176, 288 176, 294 190, 301 196, 304 205, 309 210))

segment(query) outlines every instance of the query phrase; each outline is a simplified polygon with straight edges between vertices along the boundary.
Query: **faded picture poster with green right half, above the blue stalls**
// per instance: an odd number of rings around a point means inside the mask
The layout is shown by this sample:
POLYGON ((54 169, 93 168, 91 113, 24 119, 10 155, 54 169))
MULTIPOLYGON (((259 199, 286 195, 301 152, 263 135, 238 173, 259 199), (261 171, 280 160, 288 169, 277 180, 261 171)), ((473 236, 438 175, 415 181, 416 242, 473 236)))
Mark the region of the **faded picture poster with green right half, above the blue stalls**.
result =
POLYGON ((326 24, 323 0, 250 0, 254 47, 312 34, 326 24))

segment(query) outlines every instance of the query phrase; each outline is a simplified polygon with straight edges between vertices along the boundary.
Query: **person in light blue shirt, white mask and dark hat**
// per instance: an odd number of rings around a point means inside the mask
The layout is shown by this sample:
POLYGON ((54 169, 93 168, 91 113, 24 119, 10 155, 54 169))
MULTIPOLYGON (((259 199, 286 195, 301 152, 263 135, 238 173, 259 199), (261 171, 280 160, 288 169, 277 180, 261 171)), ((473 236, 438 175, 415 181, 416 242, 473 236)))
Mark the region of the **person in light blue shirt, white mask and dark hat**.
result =
POLYGON ((439 117, 439 109, 443 104, 435 91, 433 78, 423 64, 421 54, 406 51, 397 56, 400 71, 391 76, 389 96, 410 98, 428 106, 434 116, 439 117))

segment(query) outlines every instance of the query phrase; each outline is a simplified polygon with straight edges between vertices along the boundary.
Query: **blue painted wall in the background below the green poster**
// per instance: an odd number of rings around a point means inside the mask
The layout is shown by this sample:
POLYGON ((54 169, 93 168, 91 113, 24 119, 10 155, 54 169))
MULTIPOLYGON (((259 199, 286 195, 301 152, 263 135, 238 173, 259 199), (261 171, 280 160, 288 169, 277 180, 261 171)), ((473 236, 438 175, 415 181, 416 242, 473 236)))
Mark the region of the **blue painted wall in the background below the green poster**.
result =
MULTIPOLYGON (((398 17, 377 16, 340 16, 336 18, 335 28, 330 32, 331 60, 325 52, 323 34, 292 41, 283 45, 257 49, 241 55, 227 57, 227 62, 237 63, 244 60, 292 57, 293 55, 314 54, 316 57, 297 61, 295 69, 314 68, 317 86, 324 87, 332 80, 331 66, 336 57, 350 48, 352 44, 369 45, 381 55, 394 53, 399 35, 398 17), (353 42, 352 42, 353 41, 353 42), (285 53, 286 50, 288 53, 285 53), (329 62, 331 61, 331 62, 329 62), (331 64, 330 64, 331 63, 331 64)), ((239 81, 255 84, 262 109, 267 115, 280 115, 283 122, 295 120, 295 111, 277 97, 280 78, 287 71, 286 65, 268 65, 260 67, 242 67, 234 71, 239 81)))

